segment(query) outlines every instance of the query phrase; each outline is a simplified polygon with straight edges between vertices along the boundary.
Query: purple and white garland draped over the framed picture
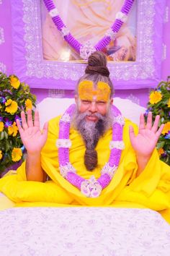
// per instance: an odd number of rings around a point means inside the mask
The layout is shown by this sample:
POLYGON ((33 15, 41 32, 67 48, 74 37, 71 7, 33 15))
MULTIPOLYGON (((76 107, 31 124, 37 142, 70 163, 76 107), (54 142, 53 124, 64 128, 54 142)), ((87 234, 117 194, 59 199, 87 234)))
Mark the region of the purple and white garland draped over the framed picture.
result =
POLYGON ((122 6, 120 12, 117 12, 115 22, 111 25, 109 30, 104 34, 104 37, 99 40, 99 42, 92 46, 89 41, 84 44, 81 44, 76 38, 71 35, 70 31, 63 23, 63 20, 59 16, 58 9, 55 7, 53 0, 44 0, 45 7, 48 9, 50 17, 52 17, 55 26, 61 31, 64 40, 73 47, 81 56, 82 59, 88 59, 88 57, 94 51, 102 51, 111 40, 115 40, 117 33, 122 27, 122 24, 128 20, 128 13, 133 6, 134 0, 125 0, 125 3, 122 6))

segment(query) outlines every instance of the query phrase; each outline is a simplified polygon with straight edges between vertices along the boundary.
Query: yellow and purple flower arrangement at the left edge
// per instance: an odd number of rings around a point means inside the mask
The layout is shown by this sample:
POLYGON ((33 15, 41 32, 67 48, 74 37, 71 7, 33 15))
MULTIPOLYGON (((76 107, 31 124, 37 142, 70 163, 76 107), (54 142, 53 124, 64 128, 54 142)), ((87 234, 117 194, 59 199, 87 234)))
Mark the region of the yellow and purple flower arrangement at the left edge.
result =
POLYGON ((9 166, 23 161, 24 146, 16 120, 21 111, 35 106, 36 97, 18 77, 0 72, 0 174, 9 166))

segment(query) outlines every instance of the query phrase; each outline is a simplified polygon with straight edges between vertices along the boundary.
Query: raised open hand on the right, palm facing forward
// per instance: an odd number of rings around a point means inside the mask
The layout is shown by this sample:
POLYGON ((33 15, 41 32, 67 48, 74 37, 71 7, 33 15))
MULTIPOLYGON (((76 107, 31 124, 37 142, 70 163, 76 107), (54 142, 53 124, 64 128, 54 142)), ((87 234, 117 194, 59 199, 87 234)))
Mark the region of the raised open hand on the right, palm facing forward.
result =
POLYGON ((145 124, 143 114, 140 115, 140 124, 138 135, 135 136, 133 127, 130 127, 130 141, 135 150, 136 155, 143 157, 150 157, 153 149, 156 147, 159 136, 161 135, 164 124, 158 129, 158 121, 160 116, 156 116, 156 119, 152 125, 152 113, 148 113, 148 119, 145 124))

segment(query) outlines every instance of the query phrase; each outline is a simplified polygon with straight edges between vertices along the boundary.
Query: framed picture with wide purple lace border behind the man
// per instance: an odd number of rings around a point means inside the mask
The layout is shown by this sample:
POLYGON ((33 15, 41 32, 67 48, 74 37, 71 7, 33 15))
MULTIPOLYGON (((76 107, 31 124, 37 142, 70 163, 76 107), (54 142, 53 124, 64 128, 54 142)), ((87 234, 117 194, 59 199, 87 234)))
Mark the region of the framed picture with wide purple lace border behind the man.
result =
MULTIPOLYGON (((14 74, 31 88, 73 90, 86 62, 63 40, 42 0, 11 1, 14 74)), ((112 0, 66 0, 63 9, 62 0, 54 2, 81 43, 96 43, 114 22, 115 10, 124 3, 113 1, 116 9, 112 0)), ((136 0, 127 24, 104 48, 116 90, 153 88, 161 80, 165 5, 165 0, 136 0)))

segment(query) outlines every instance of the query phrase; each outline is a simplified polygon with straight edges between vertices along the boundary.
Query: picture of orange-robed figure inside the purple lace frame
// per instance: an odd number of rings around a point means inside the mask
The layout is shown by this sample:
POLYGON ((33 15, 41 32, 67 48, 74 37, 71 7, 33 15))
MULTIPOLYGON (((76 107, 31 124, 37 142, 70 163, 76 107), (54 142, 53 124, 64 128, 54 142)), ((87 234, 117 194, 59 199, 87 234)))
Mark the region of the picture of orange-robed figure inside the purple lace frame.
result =
MULTIPOLYGON (((97 44, 120 12, 123 0, 71 0, 53 1, 68 30, 76 40, 92 46, 97 44)), ((135 61, 136 58, 136 4, 128 15, 116 38, 112 39, 104 53, 109 61, 135 61)), ((49 14, 42 8, 42 52, 45 60, 80 61, 79 53, 63 40, 49 14)))

